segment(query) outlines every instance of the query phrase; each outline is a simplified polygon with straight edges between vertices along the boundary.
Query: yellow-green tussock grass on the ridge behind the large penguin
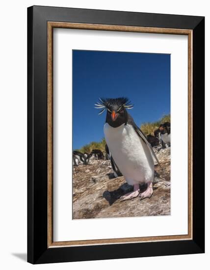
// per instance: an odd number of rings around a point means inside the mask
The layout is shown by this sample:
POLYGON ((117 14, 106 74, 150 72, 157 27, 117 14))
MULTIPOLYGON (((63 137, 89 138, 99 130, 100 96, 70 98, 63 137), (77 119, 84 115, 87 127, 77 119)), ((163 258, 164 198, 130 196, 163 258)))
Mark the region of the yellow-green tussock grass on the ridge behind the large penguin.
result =
MULTIPOLYGON (((141 125, 140 129, 143 131, 145 135, 154 135, 154 131, 158 129, 160 124, 163 124, 164 122, 171 122, 171 115, 163 115, 158 121, 156 122, 145 122, 141 125)), ((103 138, 101 141, 92 141, 89 144, 85 144, 80 149, 75 149, 76 151, 79 151, 81 153, 91 153, 93 149, 99 149, 105 154, 105 138, 103 138)))

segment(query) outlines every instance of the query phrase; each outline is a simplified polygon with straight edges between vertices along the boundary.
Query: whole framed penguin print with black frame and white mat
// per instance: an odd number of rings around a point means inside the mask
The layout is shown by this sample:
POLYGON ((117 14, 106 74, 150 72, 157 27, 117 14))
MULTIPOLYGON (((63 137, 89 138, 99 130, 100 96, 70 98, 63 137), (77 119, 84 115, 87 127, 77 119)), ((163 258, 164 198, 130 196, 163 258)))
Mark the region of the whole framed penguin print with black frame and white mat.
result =
POLYGON ((204 17, 27 12, 28 262, 203 253, 204 17))

